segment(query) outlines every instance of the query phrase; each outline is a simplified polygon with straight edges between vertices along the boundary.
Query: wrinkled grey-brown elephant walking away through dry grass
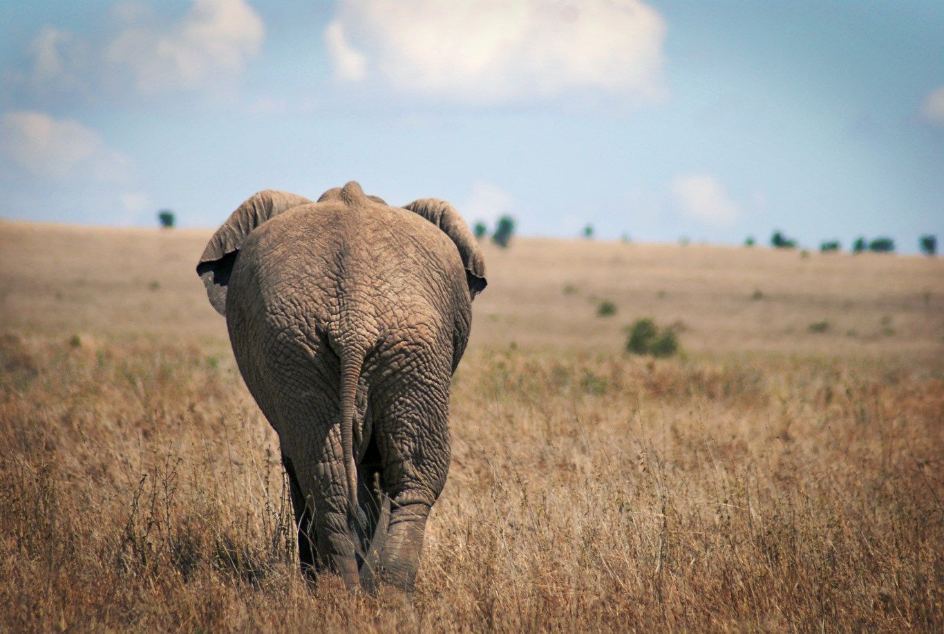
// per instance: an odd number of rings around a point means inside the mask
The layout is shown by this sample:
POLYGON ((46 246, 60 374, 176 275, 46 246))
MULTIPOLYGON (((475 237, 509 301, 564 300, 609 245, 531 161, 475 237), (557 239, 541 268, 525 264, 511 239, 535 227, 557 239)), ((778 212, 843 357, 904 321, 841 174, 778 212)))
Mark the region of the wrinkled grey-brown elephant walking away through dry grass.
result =
POLYGON ((434 198, 356 182, 318 202, 267 190, 216 231, 197 273, 245 384, 278 432, 302 570, 413 590, 449 466, 449 384, 484 261, 434 198))

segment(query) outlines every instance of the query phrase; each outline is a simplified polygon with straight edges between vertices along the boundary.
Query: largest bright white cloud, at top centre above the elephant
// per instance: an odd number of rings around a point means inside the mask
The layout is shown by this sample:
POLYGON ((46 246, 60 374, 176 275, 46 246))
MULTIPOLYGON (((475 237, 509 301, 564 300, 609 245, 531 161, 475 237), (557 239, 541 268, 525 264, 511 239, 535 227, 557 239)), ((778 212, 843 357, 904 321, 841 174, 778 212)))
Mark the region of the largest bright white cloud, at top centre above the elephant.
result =
POLYGON ((664 93, 666 23, 640 0, 345 0, 325 37, 335 75, 472 103, 664 93))

